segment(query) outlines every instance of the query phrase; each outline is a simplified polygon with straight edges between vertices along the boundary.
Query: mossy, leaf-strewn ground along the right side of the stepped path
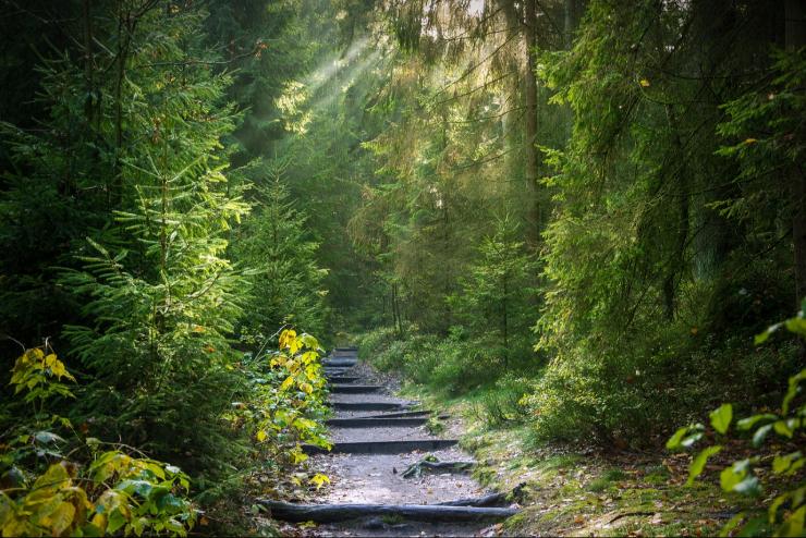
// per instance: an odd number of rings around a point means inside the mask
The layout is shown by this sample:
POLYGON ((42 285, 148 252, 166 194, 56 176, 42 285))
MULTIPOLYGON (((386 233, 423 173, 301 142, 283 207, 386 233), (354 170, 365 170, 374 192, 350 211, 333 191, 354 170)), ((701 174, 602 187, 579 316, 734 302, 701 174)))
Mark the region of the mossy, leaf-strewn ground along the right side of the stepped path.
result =
MULTIPOLYGON (((460 436, 460 445, 479 462, 474 472, 479 484, 499 491, 525 485, 523 510, 498 524, 497 535, 717 536, 733 515, 760 501, 725 499, 718 476, 687 487, 688 454, 535 445, 527 427, 485 425, 476 411, 483 394, 444 401, 403 392, 450 413, 445 431, 460 436)), ((740 457, 737 450, 720 454, 707 468, 721 469, 740 457)))

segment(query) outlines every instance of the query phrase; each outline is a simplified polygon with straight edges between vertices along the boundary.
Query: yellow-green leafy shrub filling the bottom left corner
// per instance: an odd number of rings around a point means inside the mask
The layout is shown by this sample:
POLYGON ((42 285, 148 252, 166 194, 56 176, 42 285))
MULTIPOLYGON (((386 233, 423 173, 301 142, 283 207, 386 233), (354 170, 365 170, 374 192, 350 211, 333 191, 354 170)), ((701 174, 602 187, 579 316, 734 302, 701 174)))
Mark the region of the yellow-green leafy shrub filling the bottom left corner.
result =
POLYGON ((186 497, 190 480, 178 467, 133 457, 122 447, 101 450, 106 443, 96 438, 74 433, 68 441, 56 432, 76 431, 47 409, 51 399, 74 398, 62 379, 75 380, 47 345, 26 350, 14 365, 15 400, 5 406, 17 420, 4 425, 0 437, 2 535, 186 536, 196 511, 186 497), (82 454, 86 462, 75 460, 82 454))

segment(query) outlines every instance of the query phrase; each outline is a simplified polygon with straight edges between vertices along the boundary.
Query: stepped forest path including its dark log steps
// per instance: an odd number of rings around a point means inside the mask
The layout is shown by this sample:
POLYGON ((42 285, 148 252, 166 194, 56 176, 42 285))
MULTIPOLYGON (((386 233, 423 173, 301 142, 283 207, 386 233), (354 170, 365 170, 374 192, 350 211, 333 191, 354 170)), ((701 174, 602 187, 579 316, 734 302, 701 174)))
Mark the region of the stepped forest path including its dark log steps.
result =
POLYGON ((514 514, 466 470, 425 469, 404 478, 426 456, 442 463, 472 458, 455 440, 431 435, 428 413, 394 396, 393 387, 358 363, 355 349, 337 349, 323 364, 335 411, 329 421, 334 447, 330 453, 309 450, 312 467, 328 475, 331 485, 317 499, 320 504, 284 517, 276 508, 276 517, 319 523, 301 529, 306 536, 490 536, 491 525, 514 514), (488 501, 484 508, 469 506, 479 499, 488 501), (449 502, 453 506, 440 505, 449 502))

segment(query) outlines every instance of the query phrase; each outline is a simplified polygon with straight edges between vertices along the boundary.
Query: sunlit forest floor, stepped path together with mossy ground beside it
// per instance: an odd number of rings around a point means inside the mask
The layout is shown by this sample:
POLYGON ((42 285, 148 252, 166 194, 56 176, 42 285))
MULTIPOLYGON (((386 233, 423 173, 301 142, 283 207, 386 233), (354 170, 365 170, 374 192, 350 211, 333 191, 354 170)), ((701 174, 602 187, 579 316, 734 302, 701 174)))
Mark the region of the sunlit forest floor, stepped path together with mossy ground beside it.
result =
MULTIPOLYGON (((528 442, 523 426, 485 425, 475 411, 480 394, 445 401, 412 388, 401 390, 393 377, 363 363, 327 369, 335 445, 329 454, 313 455, 310 467, 328 475, 331 484, 302 505, 313 512, 296 514, 291 517, 295 523, 283 525, 286 536, 715 536, 750 502, 725 500, 718 484, 709 481, 686 487, 686 454, 538 448, 528 442), (459 443, 451 445, 453 440, 459 443), (400 445, 390 449, 394 442, 400 445), (467 462, 472 467, 419 468, 422 473, 406 476, 426 458, 467 462), (438 514, 433 523, 396 512, 401 506, 479 499, 493 499, 487 505, 509 510, 510 516, 456 523, 438 514), (335 522, 328 521, 332 514, 322 519, 316 512, 355 504, 361 506, 352 517, 337 514, 335 522), (390 511, 366 512, 377 506, 390 511)), ((724 462, 715 460, 711 467, 719 463, 724 462)))

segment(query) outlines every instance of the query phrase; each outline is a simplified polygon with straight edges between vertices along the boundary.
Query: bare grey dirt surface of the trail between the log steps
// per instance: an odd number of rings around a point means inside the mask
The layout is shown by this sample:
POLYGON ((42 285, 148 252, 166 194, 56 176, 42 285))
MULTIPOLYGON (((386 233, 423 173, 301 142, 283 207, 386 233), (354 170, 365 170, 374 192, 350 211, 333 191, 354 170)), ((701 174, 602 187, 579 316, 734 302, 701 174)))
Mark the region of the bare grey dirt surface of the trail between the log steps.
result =
MULTIPOLYGON (((345 368, 345 362, 357 362, 355 350, 337 350, 333 355, 339 368, 328 367, 329 375, 354 377, 354 384, 383 384, 383 388, 371 393, 334 393, 331 402, 367 403, 383 402, 400 404, 402 411, 411 408, 412 402, 395 398, 392 392, 396 387, 380 378, 366 365, 355 364, 345 368)), ((343 384, 340 381, 340 384, 343 384)), ((355 417, 394 417, 400 411, 340 411, 333 418, 355 417)), ((430 435, 425 425, 395 424, 389 418, 383 426, 374 427, 331 427, 335 443, 365 442, 369 444, 383 441, 430 441, 438 439, 430 435)), ((371 449, 370 449, 371 450, 371 449)), ((402 453, 332 453, 316 454, 310 458, 313 468, 327 474, 331 485, 322 491, 317 503, 328 505, 370 504, 370 505, 435 505, 460 499, 477 499, 485 491, 466 473, 423 473, 418 477, 404 478, 402 475, 410 465, 422 461, 427 455, 436 456, 440 462, 467 462, 472 457, 457 447, 423 452, 406 451, 402 453)), ((500 506, 500 504, 497 504, 500 506)), ((307 536, 494 536, 496 521, 456 523, 442 518, 438 523, 410 521, 394 514, 363 516, 357 519, 323 523, 305 530, 307 536)), ((305 527, 305 526, 303 526, 305 527)))

